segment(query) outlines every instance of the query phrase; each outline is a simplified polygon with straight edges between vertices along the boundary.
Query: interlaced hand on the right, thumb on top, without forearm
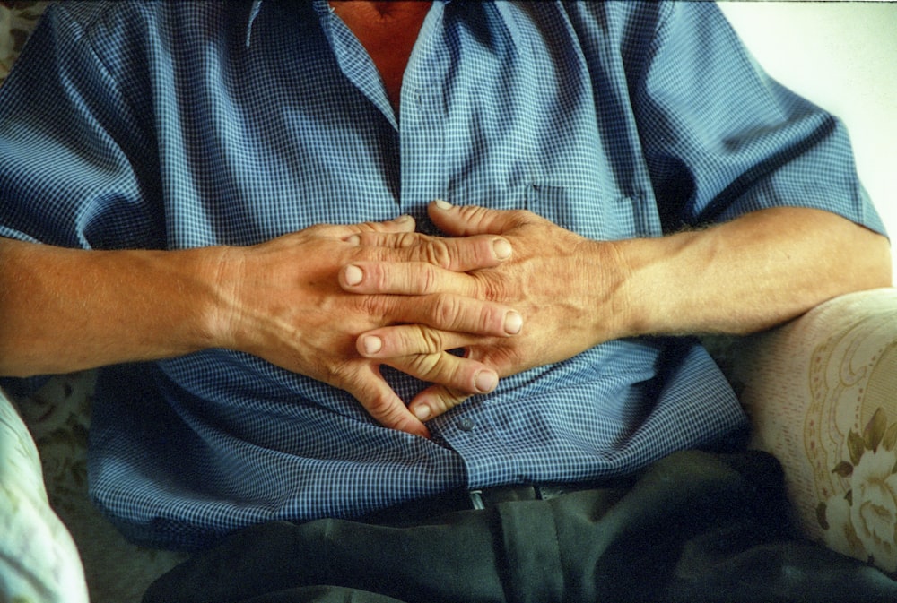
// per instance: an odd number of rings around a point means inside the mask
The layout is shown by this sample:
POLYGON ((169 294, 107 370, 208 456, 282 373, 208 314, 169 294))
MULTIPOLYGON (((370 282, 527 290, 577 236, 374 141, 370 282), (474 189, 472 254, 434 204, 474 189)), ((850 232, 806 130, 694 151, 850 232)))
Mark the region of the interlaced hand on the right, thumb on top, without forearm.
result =
MULTIPOLYGON (((620 267, 614 244, 579 237, 530 211, 497 211, 478 206, 433 202, 431 220, 450 237, 501 235, 513 255, 501 266, 471 272, 441 269, 432 263, 355 263, 353 285, 363 294, 430 295, 454 293, 514 307, 523 328, 517 337, 475 337, 444 332, 421 324, 381 327, 357 340, 364 357, 388 366, 407 364, 408 357, 438 358, 450 349, 514 375, 572 357, 604 340, 623 335, 626 305, 614 294, 620 267), (359 280, 358 275, 361 274, 359 280)), ((368 233, 362 245, 385 244, 368 233)), ((418 394, 411 409, 418 418, 433 418, 465 401, 470 394, 432 385, 418 394)))

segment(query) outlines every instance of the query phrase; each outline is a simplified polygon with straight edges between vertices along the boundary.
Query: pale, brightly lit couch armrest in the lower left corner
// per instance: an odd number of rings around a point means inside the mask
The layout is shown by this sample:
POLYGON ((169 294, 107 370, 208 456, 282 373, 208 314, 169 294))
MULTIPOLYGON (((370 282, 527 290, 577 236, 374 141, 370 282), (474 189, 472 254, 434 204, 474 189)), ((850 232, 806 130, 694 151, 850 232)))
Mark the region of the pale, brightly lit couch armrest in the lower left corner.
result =
POLYGON ((0 391, 0 601, 87 603, 74 541, 50 508, 38 450, 0 391))

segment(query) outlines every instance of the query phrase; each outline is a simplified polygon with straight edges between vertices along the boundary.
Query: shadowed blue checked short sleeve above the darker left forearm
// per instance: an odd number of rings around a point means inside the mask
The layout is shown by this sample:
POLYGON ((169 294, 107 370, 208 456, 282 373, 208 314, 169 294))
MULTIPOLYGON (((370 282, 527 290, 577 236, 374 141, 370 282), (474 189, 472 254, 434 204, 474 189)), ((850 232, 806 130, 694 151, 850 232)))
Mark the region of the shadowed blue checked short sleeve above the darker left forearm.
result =
POLYGON ((0 88, 0 236, 161 246, 151 112, 116 75, 139 62, 126 31, 73 11, 48 8, 0 88))

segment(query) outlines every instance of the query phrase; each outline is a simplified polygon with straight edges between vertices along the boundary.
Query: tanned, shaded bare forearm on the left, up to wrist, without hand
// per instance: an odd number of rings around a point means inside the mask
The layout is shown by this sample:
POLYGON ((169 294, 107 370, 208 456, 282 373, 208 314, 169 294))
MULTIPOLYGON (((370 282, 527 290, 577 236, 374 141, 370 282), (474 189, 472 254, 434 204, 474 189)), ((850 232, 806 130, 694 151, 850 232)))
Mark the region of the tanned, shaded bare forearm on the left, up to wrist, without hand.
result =
POLYGON ((0 239, 0 375, 70 372, 213 345, 215 253, 0 239))

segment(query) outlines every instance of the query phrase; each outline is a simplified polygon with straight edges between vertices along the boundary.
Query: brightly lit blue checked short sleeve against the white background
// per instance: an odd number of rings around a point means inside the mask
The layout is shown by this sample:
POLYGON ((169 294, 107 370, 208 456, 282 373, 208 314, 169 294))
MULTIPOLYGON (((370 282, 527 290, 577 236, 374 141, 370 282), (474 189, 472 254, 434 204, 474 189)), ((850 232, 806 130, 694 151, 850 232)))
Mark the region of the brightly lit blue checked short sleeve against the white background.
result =
POLYGON ((797 206, 884 225, 843 123, 771 79, 713 3, 667 3, 633 108, 666 232, 797 206))

